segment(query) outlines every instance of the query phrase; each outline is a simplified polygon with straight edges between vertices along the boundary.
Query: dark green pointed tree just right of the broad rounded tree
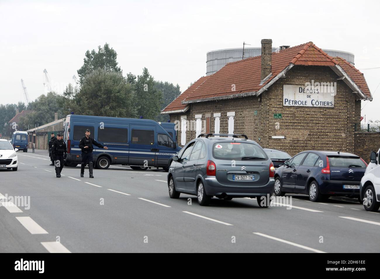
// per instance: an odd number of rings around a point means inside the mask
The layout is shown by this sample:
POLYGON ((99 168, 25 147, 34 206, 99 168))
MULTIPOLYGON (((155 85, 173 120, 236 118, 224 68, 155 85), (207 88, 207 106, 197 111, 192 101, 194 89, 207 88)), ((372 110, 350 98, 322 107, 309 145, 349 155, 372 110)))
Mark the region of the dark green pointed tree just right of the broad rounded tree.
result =
MULTIPOLYGON (((127 76, 127 79, 130 79, 130 76, 127 76)), ((138 116, 145 119, 155 119, 160 113, 163 103, 162 93, 155 88, 154 78, 150 76, 147 68, 142 70, 141 76, 137 76, 137 80, 132 85, 135 90, 135 107, 138 116)))

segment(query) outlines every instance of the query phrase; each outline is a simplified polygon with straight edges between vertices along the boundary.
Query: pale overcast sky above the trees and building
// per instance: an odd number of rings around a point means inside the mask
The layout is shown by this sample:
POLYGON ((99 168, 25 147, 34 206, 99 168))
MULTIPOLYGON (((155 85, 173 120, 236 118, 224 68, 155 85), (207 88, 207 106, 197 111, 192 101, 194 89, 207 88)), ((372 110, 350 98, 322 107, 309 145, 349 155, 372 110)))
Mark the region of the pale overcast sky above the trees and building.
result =
MULTIPOLYGON (((242 47, 243 41, 260 47, 263 38, 274 47, 312 41, 353 53, 358 69, 380 67, 379 6, 331 0, 0 0, 0 103, 25 101, 21 79, 30 100, 43 94, 45 68, 62 93, 78 77, 86 50, 106 42, 124 75, 147 67, 156 80, 178 83, 182 92, 206 75, 208 51, 242 47)), ((362 116, 379 120, 380 68, 363 73, 374 101, 362 102, 362 116)))

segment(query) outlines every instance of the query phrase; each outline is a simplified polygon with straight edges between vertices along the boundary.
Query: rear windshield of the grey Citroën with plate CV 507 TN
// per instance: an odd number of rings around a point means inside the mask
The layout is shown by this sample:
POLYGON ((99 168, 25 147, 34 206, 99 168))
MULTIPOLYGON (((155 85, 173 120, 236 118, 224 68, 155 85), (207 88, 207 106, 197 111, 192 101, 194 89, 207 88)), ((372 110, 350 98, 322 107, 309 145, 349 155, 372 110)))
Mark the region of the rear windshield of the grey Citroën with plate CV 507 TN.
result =
POLYGON ((222 160, 267 160, 263 148, 246 142, 218 142, 212 147, 212 156, 222 160))

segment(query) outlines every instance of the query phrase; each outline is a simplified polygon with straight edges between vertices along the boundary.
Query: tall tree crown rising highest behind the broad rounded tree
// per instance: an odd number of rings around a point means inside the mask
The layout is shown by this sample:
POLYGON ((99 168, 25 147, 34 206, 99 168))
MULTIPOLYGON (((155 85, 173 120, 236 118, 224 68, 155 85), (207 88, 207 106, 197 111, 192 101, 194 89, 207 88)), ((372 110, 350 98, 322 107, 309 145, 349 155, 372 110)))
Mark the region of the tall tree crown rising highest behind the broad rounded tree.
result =
POLYGON ((107 43, 104 47, 98 46, 98 52, 96 52, 95 49, 91 52, 90 50, 87 50, 84 58, 84 64, 77 71, 81 84, 84 77, 96 69, 104 69, 108 72, 121 72, 122 70, 117 66, 116 57, 116 51, 110 48, 107 43))

